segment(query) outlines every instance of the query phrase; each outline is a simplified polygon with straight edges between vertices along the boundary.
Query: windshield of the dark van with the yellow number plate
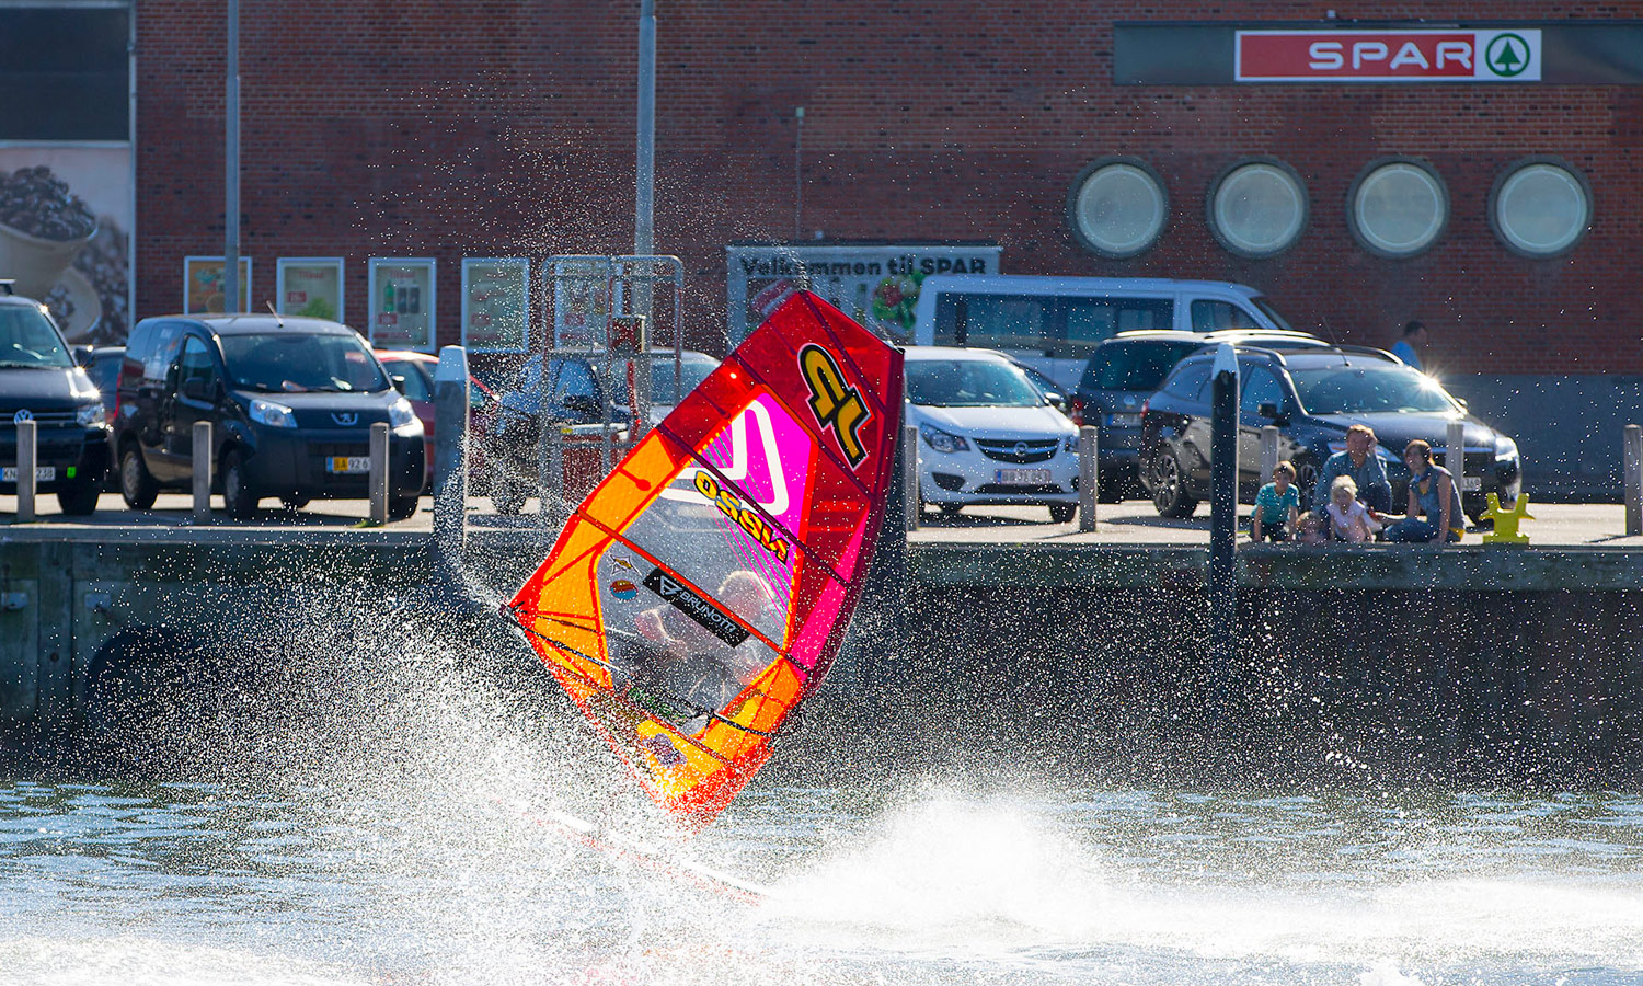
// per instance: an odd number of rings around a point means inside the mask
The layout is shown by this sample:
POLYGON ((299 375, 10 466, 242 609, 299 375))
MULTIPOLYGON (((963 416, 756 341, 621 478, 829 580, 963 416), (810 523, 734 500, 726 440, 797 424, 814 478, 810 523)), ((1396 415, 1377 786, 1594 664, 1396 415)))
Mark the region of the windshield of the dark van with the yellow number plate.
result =
POLYGON ((384 391, 388 376, 358 335, 223 335, 228 378, 263 393, 384 391))

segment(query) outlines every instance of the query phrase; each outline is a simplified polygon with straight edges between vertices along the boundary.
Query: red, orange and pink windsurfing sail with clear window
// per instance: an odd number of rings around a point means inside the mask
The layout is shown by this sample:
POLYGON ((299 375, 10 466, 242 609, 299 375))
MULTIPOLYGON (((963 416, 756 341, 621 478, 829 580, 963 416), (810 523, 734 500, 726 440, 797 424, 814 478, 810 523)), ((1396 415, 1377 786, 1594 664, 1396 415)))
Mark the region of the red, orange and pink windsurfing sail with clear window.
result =
POLYGON ((588 493, 509 603, 685 823, 729 805, 838 654, 900 412, 900 352, 798 291, 588 493))

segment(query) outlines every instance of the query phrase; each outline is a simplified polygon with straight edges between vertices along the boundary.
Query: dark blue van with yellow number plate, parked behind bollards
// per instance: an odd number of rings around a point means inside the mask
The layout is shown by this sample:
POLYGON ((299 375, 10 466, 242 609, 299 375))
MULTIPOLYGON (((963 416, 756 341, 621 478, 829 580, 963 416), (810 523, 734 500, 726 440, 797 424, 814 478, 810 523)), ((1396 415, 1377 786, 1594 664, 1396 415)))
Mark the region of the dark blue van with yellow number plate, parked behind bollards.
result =
POLYGON ((416 511, 422 422, 360 334, 297 316, 164 316, 131 330, 120 368, 120 495, 148 509, 194 477, 194 422, 210 421, 212 460, 232 518, 278 496, 370 496, 371 424, 386 421, 388 511, 416 511))

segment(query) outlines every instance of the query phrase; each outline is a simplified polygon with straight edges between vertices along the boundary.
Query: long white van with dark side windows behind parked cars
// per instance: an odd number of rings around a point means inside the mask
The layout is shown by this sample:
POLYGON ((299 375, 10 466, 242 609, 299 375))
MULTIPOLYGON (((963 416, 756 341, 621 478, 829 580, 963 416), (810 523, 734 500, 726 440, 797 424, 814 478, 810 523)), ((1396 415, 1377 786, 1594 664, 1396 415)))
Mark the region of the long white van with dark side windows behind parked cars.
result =
POLYGON ((1004 350, 1071 393, 1101 340, 1132 329, 1291 329, 1267 297, 1231 281, 933 274, 915 345, 1004 350))

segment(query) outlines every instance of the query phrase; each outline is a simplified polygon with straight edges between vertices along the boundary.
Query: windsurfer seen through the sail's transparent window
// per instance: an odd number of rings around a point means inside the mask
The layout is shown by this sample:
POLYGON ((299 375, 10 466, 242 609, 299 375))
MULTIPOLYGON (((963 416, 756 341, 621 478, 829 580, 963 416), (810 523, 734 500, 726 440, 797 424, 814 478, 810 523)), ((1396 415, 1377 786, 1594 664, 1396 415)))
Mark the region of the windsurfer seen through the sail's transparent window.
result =
MULTIPOLYGON (((733 615, 754 626, 769 626, 771 620, 779 616, 775 593, 757 572, 749 569, 726 575, 716 598, 733 615)), ((723 708, 764 669, 754 638, 736 646, 726 644, 674 606, 644 610, 634 618, 634 629, 649 643, 646 647, 649 675, 669 684, 680 698, 703 708, 723 708)))

